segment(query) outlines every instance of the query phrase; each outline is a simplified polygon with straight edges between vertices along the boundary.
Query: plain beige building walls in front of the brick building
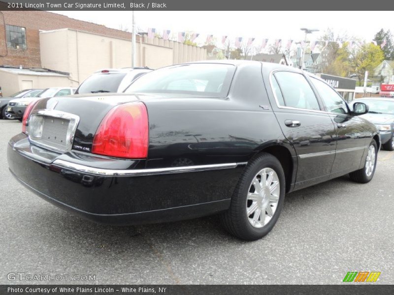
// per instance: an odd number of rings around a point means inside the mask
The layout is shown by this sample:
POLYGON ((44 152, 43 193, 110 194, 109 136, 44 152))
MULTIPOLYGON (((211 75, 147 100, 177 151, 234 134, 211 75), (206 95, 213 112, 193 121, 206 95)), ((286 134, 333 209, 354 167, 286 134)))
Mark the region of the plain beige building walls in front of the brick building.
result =
MULTIPOLYGON (((156 69, 206 59, 204 48, 157 37, 143 39, 136 43, 135 66, 156 69)), ((41 31, 40 48, 42 67, 68 72, 77 83, 103 68, 131 67, 131 40, 127 39, 60 29, 41 31)))

